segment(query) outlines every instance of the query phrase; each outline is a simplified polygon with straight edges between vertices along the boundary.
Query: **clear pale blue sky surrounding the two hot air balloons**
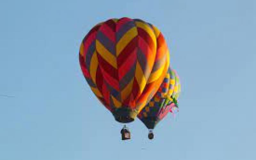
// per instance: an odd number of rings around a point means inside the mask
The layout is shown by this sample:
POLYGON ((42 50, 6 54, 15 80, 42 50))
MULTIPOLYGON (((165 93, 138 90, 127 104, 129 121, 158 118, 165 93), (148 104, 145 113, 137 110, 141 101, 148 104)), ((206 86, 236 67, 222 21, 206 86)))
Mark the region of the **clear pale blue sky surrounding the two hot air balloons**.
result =
POLYGON ((0 160, 255 160, 255 28, 255 0, 1 1, 0 160), (180 75, 153 141, 138 119, 121 141, 80 70, 84 35, 121 17, 156 25, 180 75))

